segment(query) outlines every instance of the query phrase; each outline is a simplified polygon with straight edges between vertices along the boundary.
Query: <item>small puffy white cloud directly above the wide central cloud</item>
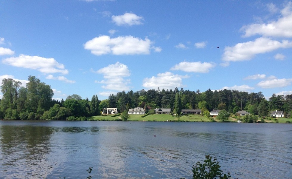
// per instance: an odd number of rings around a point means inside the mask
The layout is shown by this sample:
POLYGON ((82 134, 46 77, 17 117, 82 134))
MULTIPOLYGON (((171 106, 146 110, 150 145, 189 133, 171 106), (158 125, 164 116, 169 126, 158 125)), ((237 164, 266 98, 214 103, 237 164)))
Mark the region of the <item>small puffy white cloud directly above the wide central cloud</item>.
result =
POLYGON ((133 13, 125 13, 124 15, 120 15, 120 16, 111 16, 111 19, 118 26, 140 25, 140 24, 143 24, 141 21, 144 20, 142 16, 137 16, 136 14, 133 14, 133 13))

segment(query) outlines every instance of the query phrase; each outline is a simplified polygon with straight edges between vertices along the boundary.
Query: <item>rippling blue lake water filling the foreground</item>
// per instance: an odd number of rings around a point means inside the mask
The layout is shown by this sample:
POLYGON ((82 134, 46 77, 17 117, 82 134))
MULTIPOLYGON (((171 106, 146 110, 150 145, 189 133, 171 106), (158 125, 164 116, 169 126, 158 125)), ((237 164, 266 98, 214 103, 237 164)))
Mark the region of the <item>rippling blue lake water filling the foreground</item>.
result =
POLYGON ((192 178, 207 154, 232 178, 291 179, 292 125, 0 121, 1 179, 192 178))

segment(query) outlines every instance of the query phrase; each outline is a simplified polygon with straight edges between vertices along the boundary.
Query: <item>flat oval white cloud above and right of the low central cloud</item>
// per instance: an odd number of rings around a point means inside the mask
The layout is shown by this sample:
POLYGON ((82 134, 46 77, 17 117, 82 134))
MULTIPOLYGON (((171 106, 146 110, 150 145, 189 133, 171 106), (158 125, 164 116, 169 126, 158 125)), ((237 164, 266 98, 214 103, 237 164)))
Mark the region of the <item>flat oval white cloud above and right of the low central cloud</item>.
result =
POLYGON ((210 69, 215 67, 214 63, 209 62, 187 62, 183 61, 179 64, 176 64, 174 67, 171 67, 170 70, 181 70, 184 72, 196 72, 196 73, 208 73, 210 69))

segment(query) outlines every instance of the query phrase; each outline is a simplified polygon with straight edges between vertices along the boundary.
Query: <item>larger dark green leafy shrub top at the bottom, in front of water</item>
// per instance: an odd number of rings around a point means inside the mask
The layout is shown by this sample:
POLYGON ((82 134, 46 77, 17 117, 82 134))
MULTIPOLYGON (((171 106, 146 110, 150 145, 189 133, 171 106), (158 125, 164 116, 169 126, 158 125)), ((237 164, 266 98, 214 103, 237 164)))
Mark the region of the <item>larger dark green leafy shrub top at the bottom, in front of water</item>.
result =
MULTIPOLYGON (((231 178, 230 173, 223 174, 220 170, 219 162, 216 158, 213 159, 210 155, 205 155, 204 163, 197 162, 196 166, 192 166, 192 179, 228 179, 231 178)), ((185 179, 185 178, 180 178, 185 179)))

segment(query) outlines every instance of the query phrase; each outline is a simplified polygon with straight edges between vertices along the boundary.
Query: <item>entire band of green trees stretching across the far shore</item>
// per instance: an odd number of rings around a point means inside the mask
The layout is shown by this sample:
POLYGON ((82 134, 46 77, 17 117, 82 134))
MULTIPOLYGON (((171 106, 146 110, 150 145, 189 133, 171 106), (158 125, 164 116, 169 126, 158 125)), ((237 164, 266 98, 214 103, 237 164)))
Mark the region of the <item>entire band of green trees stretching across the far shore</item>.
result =
POLYGON ((229 113, 245 110, 253 115, 268 116, 269 111, 284 111, 284 116, 292 111, 292 95, 275 95, 269 100, 262 92, 240 92, 238 90, 215 90, 205 92, 190 91, 181 88, 174 90, 139 90, 117 92, 108 99, 100 101, 93 95, 88 98, 73 94, 64 101, 52 99, 54 93, 50 85, 41 82, 35 76, 28 77, 26 87, 11 78, 3 79, 0 100, 1 119, 21 120, 68 120, 79 117, 100 115, 102 108, 117 108, 119 112, 142 107, 145 112, 156 108, 171 108, 174 113, 181 109, 201 109, 203 112, 213 109, 225 109, 229 113))

